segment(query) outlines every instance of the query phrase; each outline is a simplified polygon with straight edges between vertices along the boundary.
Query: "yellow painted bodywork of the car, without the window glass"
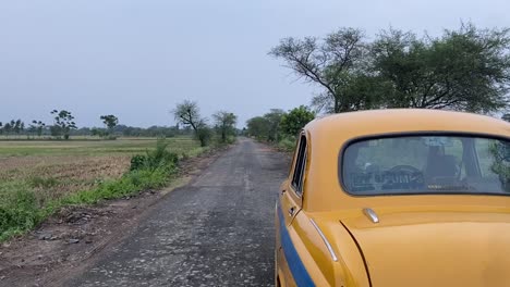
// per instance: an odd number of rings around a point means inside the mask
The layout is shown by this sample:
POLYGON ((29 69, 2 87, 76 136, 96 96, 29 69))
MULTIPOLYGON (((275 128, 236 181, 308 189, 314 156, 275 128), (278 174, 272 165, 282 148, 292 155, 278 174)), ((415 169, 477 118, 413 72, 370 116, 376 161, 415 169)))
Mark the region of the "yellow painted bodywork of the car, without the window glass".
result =
POLYGON ((300 278, 304 273, 316 286, 502 286, 510 280, 503 273, 510 265, 505 246, 510 196, 352 196, 343 190, 339 162, 350 141, 422 132, 509 138, 510 124, 467 113, 384 110, 330 115, 305 126, 303 195, 292 189, 291 167, 277 203, 276 274, 282 286, 311 286, 300 278), (299 210, 290 216, 293 205, 299 210), (365 208, 380 222, 371 221, 365 208), (296 259, 304 271, 292 267, 296 259))

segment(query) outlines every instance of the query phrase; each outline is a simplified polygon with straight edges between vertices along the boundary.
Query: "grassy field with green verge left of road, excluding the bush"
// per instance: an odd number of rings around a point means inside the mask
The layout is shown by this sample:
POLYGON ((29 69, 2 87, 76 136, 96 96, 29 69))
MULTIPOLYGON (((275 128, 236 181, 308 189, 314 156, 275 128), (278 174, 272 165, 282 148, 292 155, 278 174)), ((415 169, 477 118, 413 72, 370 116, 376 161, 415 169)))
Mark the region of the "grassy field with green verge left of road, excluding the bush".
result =
MULTIPOLYGON (((54 212, 38 211, 61 205, 62 200, 95 202, 160 186, 168 177, 166 170, 130 172, 131 158, 154 150, 156 142, 156 138, 0 140, 0 240, 35 226, 54 212)), ((191 137, 166 142, 167 151, 180 158, 204 151, 191 137)))

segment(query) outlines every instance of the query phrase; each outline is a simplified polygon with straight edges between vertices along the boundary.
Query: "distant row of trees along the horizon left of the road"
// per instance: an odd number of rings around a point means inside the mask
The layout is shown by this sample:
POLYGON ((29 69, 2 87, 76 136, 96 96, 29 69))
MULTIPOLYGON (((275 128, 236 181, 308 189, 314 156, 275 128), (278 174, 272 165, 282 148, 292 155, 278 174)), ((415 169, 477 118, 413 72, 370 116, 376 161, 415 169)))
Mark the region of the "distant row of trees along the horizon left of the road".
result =
POLYGON ((202 117, 196 102, 184 101, 172 111, 178 122, 174 126, 135 127, 119 124, 119 118, 113 114, 101 115, 99 118, 104 127, 77 127, 75 118, 70 111, 52 110, 53 123, 46 124, 33 120, 25 124, 21 118, 7 122, 0 121, 0 136, 4 139, 69 139, 71 136, 90 136, 102 139, 116 139, 123 137, 174 137, 180 135, 193 135, 207 146, 214 138, 218 142, 232 142, 235 135, 241 132, 235 128, 236 115, 227 111, 218 111, 212 115, 214 125, 202 117))

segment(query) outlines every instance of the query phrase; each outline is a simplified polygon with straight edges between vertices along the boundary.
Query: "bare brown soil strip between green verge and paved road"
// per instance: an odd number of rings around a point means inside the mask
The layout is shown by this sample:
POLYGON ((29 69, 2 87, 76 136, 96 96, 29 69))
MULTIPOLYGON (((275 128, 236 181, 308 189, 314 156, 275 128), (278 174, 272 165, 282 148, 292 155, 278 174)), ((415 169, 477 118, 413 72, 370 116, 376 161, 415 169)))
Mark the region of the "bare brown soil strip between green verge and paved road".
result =
POLYGON ((48 286, 56 277, 85 270, 100 251, 113 249, 132 234, 150 207, 166 194, 199 175, 221 150, 186 159, 179 179, 162 190, 97 205, 61 210, 37 229, 0 246, 0 286, 48 286))

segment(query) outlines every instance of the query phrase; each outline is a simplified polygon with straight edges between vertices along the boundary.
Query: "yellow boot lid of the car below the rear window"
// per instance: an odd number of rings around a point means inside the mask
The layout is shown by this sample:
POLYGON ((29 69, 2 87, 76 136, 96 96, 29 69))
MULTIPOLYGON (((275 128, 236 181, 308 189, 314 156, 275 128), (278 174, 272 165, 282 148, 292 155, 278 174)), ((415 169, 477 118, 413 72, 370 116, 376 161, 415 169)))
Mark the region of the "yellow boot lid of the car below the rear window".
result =
POLYGON ((508 211, 414 209, 377 215, 377 225, 363 216, 343 220, 374 286, 509 285, 508 211))

